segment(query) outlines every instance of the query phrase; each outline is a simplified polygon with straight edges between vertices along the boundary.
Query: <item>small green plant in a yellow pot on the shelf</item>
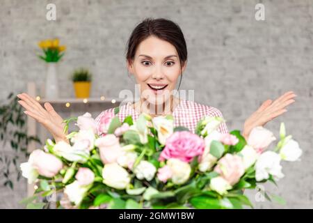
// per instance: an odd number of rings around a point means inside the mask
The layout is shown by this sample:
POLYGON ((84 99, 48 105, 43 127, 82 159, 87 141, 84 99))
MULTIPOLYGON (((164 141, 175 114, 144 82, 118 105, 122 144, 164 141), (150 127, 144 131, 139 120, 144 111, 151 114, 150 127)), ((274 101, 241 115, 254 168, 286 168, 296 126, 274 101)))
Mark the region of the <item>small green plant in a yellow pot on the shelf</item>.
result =
POLYGON ((86 68, 74 70, 72 81, 76 98, 89 98, 92 74, 86 68))

